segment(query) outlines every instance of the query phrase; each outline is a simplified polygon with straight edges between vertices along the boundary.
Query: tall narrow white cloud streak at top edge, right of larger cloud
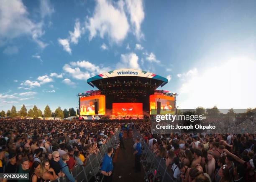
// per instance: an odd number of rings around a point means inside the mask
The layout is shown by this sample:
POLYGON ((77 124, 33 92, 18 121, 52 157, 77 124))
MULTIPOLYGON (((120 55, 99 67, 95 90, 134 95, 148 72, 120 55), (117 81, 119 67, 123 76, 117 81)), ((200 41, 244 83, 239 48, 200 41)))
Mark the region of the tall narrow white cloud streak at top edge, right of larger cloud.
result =
POLYGON ((130 15, 130 21, 133 27, 133 32, 137 39, 144 37, 141 33, 141 23, 144 20, 143 0, 125 0, 128 13, 130 15))

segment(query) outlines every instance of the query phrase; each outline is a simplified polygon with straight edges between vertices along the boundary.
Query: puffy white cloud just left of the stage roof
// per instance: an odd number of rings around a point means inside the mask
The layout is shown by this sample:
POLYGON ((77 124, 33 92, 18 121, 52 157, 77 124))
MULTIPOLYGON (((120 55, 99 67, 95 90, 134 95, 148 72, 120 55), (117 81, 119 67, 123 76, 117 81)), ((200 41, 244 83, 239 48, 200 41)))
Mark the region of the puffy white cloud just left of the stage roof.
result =
POLYGON ((63 70, 77 80, 87 80, 96 74, 109 71, 110 67, 96 66, 89 61, 83 60, 65 64, 63 70))

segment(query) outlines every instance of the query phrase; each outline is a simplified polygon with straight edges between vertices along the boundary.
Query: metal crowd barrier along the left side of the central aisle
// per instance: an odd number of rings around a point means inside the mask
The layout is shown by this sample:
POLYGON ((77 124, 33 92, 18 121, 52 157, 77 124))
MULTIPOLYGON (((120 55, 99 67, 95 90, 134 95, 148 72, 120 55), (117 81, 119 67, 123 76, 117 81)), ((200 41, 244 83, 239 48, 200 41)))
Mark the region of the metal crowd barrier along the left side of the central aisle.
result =
MULTIPOLYGON (((113 147, 114 151, 117 148, 118 145, 118 139, 119 139, 119 133, 121 129, 119 128, 117 132, 115 132, 115 135, 113 135, 108 142, 105 143, 105 145, 100 146, 100 152, 98 152, 97 155, 91 154, 87 158, 87 162, 85 166, 76 165, 74 169, 71 172, 71 175, 75 178, 77 182, 89 182, 92 177, 95 178, 95 182, 99 182, 103 180, 102 175, 99 175, 101 164, 104 158, 104 155, 107 153, 108 147, 113 147)), ((114 154, 113 154, 114 155, 114 154)), ((112 155, 112 157, 113 157, 112 155)), ((64 177, 59 177, 54 181, 50 182, 69 182, 69 179, 64 177)))

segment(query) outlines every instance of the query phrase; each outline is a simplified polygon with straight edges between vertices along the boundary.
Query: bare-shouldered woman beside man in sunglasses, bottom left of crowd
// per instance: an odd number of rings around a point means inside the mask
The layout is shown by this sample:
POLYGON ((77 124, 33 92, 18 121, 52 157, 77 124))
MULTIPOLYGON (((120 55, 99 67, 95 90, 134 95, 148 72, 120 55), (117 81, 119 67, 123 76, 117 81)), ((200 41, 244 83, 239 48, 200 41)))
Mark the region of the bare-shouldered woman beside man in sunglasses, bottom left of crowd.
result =
POLYGON ((58 176, 54 172, 54 169, 50 167, 49 160, 44 160, 42 162, 40 173, 41 173, 42 180, 44 181, 45 180, 53 181, 58 178, 58 176))

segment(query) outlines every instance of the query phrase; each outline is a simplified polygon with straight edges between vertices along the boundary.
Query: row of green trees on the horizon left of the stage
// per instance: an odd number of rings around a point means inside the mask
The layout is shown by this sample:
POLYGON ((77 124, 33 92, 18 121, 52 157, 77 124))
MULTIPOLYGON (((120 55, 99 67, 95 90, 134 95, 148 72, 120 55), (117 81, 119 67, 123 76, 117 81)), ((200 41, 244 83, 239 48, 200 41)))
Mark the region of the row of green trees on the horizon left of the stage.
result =
POLYGON ((67 110, 66 108, 64 110, 61 110, 61 107, 57 107, 54 112, 51 111, 51 108, 49 105, 46 105, 44 108, 44 113, 34 105, 34 107, 30 110, 27 110, 25 105, 22 105, 20 108, 20 111, 17 112, 16 107, 13 105, 11 110, 8 110, 6 113, 4 110, 0 112, 1 117, 10 116, 10 117, 60 117, 61 119, 67 118, 69 116, 76 116, 77 112, 74 110, 74 108, 69 108, 67 110))

